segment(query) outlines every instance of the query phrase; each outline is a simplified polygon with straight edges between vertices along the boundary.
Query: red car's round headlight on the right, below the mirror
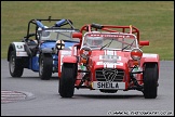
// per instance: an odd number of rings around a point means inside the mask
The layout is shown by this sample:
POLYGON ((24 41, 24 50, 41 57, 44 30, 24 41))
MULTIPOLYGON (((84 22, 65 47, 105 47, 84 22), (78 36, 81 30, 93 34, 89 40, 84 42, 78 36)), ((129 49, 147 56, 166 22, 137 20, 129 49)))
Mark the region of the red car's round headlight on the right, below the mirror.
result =
POLYGON ((142 58, 142 56, 143 56, 143 51, 140 50, 140 49, 133 49, 132 51, 131 51, 131 57, 133 58, 133 60, 140 60, 142 58))

